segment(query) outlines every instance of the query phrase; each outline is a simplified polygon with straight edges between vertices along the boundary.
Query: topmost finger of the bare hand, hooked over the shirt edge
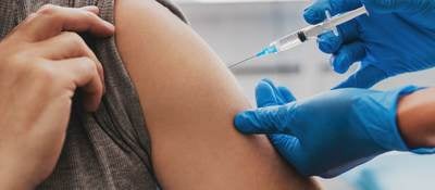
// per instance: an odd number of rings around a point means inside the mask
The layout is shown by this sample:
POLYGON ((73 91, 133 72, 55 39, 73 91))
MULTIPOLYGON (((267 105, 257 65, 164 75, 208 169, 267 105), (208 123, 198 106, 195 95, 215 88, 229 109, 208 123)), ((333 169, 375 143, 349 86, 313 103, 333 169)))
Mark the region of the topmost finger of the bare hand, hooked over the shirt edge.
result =
POLYGON ((39 41, 64 30, 89 31, 107 37, 113 35, 114 26, 84 9, 45 5, 35 16, 23 23, 21 30, 29 41, 39 41))

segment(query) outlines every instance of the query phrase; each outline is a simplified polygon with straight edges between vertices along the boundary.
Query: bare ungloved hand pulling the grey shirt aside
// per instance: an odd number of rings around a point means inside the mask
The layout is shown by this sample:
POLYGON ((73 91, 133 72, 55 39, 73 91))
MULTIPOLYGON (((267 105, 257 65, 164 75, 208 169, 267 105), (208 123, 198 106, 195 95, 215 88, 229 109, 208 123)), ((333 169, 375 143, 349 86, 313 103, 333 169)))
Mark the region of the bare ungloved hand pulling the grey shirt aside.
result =
POLYGON ((46 5, 0 42, 0 189, 30 189, 51 174, 77 88, 85 109, 98 109, 102 65, 73 33, 111 36, 98 12, 46 5))

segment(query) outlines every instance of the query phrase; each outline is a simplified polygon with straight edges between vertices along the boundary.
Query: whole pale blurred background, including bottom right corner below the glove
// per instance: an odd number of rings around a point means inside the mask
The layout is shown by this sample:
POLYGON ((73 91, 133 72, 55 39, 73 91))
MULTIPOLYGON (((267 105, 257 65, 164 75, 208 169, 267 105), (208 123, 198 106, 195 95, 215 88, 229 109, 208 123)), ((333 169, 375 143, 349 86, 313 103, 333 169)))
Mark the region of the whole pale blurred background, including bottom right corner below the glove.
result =
MULTIPOLYGON (((174 0, 222 60, 232 64, 258 52, 270 41, 306 26, 301 13, 307 0, 174 0)), ((349 73, 355 71, 353 66, 349 73)), ((258 80, 271 78, 289 87, 302 99, 328 90, 347 75, 333 73, 328 55, 316 50, 315 41, 275 55, 253 60, 235 68, 246 94, 254 102, 258 80)), ((407 84, 430 86, 435 69, 387 79, 375 89, 391 89, 407 84)), ((331 155, 334 156, 334 155, 331 155)), ((321 180, 334 190, 415 190, 435 189, 435 155, 393 152, 380 156, 338 178, 321 180)))

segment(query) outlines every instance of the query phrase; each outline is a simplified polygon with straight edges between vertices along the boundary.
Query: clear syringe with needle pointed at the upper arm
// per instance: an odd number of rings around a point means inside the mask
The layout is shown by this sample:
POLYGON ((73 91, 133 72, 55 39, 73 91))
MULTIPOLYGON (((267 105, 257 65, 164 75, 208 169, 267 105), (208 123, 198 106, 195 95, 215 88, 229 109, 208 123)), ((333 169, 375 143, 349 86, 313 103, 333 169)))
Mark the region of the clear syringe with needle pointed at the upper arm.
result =
POLYGON ((365 7, 361 7, 353 11, 349 11, 343 14, 337 14, 331 17, 328 11, 325 12, 326 20, 323 23, 316 25, 310 25, 304 28, 298 29, 287 36, 284 36, 273 42, 271 42, 268 47, 263 48, 259 53, 245 59, 244 61, 237 62, 228 66, 228 68, 234 68, 237 65, 252 60, 254 58, 265 56, 272 53, 279 53, 283 51, 287 51, 291 48, 295 48, 303 42, 308 41, 309 39, 315 39, 319 35, 324 34, 326 31, 334 31, 336 36, 338 36, 337 26, 346 23, 355 17, 358 17, 362 14, 368 14, 365 7))

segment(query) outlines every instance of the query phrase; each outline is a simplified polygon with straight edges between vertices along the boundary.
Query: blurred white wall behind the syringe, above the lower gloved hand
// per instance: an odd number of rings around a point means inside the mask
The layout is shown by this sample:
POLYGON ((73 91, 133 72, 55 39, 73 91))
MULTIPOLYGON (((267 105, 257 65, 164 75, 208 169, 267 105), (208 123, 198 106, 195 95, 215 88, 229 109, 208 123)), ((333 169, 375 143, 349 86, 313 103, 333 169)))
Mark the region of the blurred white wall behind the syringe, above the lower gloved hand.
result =
MULTIPOLYGON (((307 1, 252 3, 182 3, 192 27, 227 64, 258 52, 270 41, 306 26, 301 12, 307 1)), ((234 69, 248 94, 254 83, 268 77, 290 87, 298 97, 327 90, 347 75, 334 74, 328 55, 316 49, 315 41, 289 52, 248 62, 234 69)), ((432 85, 435 71, 405 75, 382 83, 377 88, 403 84, 432 85)), ((252 98, 252 96, 251 96, 252 98)))

